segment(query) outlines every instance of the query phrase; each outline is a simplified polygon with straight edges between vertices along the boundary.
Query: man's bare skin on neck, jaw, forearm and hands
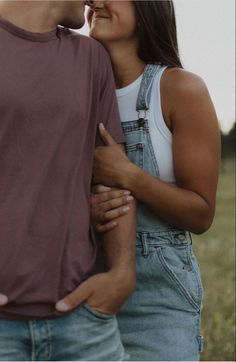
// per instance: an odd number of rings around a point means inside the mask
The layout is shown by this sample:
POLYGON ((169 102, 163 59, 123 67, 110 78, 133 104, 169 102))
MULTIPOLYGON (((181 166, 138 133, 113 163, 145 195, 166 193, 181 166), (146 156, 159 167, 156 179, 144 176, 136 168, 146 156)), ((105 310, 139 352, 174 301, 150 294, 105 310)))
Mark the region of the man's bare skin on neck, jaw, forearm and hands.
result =
MULTIPOLYGON (((58 24, 80 28, 84 24, 84 1, 0 1, 0 16, 27 31, 44 33, 58 24)), ((124 146, 116 145, 124 154, 124 146)), ((119 191, 119 196, 129 192, 119 191)), ((58 301, 58 312, 68 312, 83 302, 105 313, 116 313, 135 287, 135 229, 134 198, 129 210, 122 213, 119 226, 102 236, 108 271, 92 276, 75 291, 58 301), (129 213, 127 213, 129 211, 129 213), (129 242, 127 242, 129 240, 129 242)), ((0 294, 0 305, 7 304, 0 294)))

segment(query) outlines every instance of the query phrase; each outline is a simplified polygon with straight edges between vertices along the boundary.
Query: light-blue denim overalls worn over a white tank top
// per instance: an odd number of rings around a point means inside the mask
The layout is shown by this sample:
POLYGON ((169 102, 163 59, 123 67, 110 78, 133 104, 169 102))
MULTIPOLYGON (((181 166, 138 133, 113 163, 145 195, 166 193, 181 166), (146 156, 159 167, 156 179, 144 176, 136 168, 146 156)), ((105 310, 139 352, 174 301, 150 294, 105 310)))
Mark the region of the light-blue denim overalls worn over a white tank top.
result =
MULTIPOLYGON (((159 177, 148 109, 155 75, 147 65, 137 99, 137 120, 123 122, 129 159, 159 177)), ((131 360, 197 361, 202 350, 202 284, 190 233, 164 222, 146 205, 138 207, 137 286, 118 314, 122 341, 131 360)))

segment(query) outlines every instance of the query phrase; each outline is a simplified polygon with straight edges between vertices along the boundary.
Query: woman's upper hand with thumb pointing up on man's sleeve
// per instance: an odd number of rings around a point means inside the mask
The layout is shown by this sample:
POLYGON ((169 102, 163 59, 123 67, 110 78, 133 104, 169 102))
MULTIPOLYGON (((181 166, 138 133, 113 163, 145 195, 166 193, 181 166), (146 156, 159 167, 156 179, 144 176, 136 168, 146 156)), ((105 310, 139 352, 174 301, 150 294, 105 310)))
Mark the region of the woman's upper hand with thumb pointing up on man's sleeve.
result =
POLYGON ((133 167, 133 164, 102 123, 99 131, 106 146, 97 147, 95 150, 93 183, 123 188, 126 171, 133 167))

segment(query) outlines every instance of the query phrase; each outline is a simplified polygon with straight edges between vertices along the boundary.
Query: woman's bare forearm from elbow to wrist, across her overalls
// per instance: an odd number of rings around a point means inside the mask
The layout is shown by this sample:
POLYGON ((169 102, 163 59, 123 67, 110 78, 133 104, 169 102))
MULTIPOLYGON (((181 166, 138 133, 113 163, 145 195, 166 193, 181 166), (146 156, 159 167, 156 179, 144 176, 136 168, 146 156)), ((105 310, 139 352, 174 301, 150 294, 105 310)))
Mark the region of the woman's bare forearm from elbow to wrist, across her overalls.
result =
POLYGON ((213 220, 214 210, 201 195, 163 182, 135 165, 123 173, 119 186, 129 189, 139 202, 175 227, 199 234, 213 220))

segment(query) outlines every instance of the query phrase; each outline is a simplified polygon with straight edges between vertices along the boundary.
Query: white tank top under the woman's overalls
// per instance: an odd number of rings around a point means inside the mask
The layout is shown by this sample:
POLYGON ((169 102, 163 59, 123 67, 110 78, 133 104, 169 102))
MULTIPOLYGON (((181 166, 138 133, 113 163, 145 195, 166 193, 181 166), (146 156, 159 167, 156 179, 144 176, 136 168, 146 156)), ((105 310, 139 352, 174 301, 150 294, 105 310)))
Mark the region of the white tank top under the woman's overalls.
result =
MULTIPOLYGON (((160 171, 160 179, 165 182, 175 183, 172 152, 172 133, 167 127, 161 109, 160 81, 166 67, 161 67, 157 72, 152 86, 150 107, 146 118, 154 154, 160 171)), ((142 75, 127 87, 116 90, 120 117, 122 122, 138 119, 136 102, 142 75)))

